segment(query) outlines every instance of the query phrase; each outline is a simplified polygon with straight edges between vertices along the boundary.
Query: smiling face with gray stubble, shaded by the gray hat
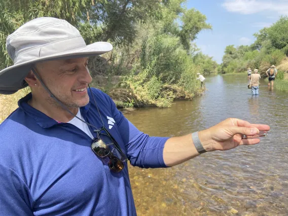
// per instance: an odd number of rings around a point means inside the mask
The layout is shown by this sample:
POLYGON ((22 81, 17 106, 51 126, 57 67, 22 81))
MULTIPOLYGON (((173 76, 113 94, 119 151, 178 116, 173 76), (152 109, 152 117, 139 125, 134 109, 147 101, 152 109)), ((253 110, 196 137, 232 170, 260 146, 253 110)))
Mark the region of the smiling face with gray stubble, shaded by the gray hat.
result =
MULTIPOLYGON (((36 65, 36 69, 46 87, 58 100, 68 108, 76 108, 89 102, 87 87, 92 78, 87 64, 88 58, 73 58, 42 62, 36 65)), ((48 94, 42 86, 41 91, 44 95, 48 94)), ((46 99, 56 104, 49 94, 46 99)))

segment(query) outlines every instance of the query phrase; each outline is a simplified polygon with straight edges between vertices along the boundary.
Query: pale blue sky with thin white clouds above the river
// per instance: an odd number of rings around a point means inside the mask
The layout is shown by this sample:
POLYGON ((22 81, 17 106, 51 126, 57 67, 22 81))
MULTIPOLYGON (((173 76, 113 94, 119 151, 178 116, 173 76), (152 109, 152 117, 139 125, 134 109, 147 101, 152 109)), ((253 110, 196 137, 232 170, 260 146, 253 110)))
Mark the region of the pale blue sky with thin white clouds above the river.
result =
POLYGON ((187 0, 191 8, 206 15, 213 28, 198 34, 197 46, 221 63, 226 46, 253 44, 254 33, 288 15, 288 0, 187 0))

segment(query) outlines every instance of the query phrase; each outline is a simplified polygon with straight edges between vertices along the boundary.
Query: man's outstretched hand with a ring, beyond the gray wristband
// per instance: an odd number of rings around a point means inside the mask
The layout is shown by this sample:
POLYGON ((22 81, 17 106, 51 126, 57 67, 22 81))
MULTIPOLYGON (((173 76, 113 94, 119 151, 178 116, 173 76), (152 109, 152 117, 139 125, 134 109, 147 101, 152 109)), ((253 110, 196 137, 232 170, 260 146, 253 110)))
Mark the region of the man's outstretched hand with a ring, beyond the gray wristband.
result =
POLYGON ((240 119, 229 118, 225 121, 199 131, 199 139, 207 151, 230 150, 240 145, 254 145, 260 142, 259 138, 242 139, 242 134, 252 136, 259 131, 269 131, 269 125, 250 124, 240 119))

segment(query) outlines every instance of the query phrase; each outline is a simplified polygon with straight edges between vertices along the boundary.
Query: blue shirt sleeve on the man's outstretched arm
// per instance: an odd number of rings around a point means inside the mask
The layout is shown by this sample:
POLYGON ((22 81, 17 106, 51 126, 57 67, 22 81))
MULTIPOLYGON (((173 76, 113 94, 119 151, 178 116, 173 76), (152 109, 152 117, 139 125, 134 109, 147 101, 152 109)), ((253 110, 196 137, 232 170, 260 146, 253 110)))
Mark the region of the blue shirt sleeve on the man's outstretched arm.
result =
POLYGON ((167 167, 163 159, 163 149, 169 137, 152 137, 139 131, 117 109, 110 96, 104 94, 104 97, 112 108, 113 118, 117 122, 131 165, 141 168, 167 167))

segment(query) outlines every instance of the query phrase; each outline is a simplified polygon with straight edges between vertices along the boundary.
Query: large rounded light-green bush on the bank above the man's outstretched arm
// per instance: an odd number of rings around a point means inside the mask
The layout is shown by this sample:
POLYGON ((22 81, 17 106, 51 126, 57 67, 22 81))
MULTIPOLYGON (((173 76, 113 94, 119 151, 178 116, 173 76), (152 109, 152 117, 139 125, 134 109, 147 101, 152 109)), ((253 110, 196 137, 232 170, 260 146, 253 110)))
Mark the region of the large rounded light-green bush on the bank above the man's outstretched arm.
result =
POLYGON ((176 95, 185 98, 194 96, 196 70, 179 39, 156 34, 145 44, 140 62, 134 65, 122 83, 122 87, 130 89, 137 104, 163 107, 170 106, 176 95))

